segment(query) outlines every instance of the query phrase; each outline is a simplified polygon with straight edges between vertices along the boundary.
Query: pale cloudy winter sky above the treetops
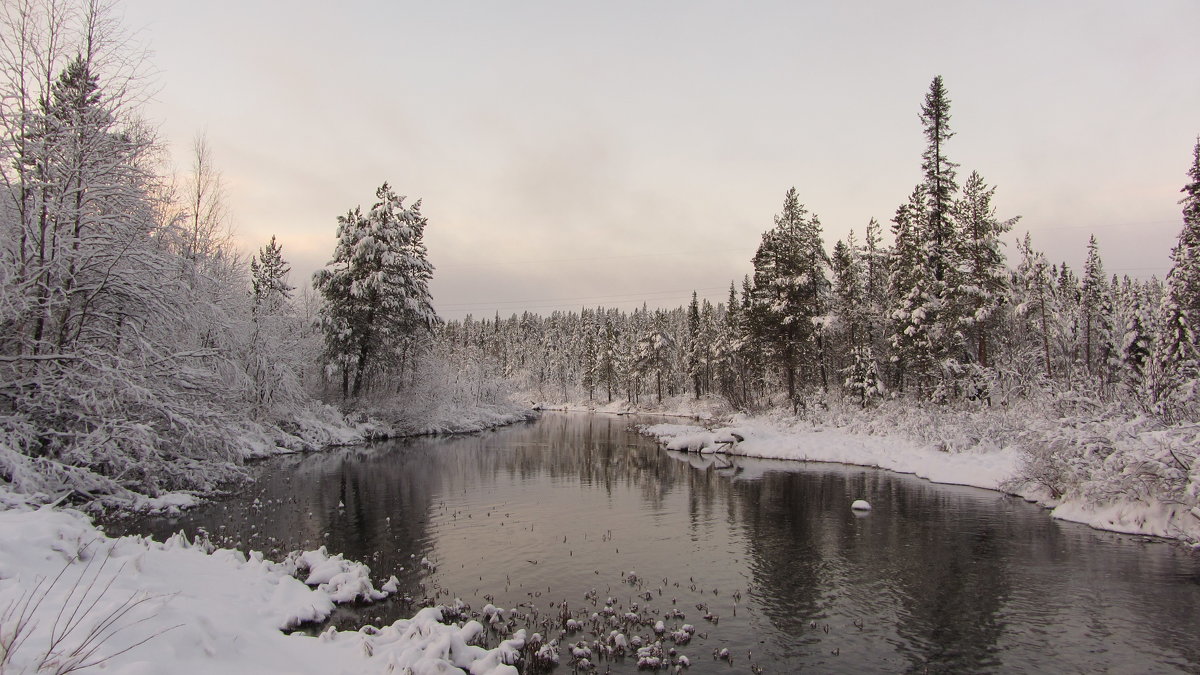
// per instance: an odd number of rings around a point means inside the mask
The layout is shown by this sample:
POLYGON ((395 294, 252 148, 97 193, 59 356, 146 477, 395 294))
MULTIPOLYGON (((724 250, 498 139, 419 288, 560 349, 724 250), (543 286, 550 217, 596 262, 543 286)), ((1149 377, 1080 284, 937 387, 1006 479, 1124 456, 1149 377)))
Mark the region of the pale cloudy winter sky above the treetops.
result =
MULTIPOLYGON (((1076 269, 1164 275, 1200 135, 1200 2, 126 0, 176 166, 205 132, 247 252, 304 285, 336 217, 422 199, 446 318, 724 299, 784 193, 827 247, 959 183, 1076 269)), ((1008 247, 1015 262, 1015 247, 1008 247)))

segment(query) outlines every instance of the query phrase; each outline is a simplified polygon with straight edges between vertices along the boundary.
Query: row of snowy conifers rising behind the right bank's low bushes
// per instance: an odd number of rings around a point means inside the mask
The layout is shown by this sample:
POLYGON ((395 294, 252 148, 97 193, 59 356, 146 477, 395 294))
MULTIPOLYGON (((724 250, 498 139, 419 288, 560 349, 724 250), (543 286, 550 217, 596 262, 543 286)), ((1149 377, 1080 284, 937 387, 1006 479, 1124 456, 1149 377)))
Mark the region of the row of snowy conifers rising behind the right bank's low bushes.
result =
POLYGON ((830 396, 977 401, 1074 390, 1166 420, 1196 416, 1200 143, 1165 282, 1108 276, 1092 237, 1082 270, 1051 264, 996 187, 949 160, 950 101, 935 77, 920 106, 924 179, 890 220, 830 251, 793 187, 752 273, 722 303, 632 312, 586 307, 451 322, 455 358, 476 359, 548 400, 631 402, 715 394, 740 410, 830 396))

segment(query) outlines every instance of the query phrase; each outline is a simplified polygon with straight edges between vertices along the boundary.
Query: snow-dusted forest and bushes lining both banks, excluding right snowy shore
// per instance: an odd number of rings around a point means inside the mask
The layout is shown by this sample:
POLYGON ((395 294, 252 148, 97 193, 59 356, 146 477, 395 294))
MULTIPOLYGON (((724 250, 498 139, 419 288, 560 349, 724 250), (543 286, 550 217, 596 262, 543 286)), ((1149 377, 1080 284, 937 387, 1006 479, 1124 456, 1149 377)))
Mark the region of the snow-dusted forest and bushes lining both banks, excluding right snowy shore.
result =
POLYGON ((474 428, 454 418, 480 410, 704 401, 949 452, 1019 444, 1021 479, 1054 498, 1200 498, 1200 143, 1190 162, 1181 149, 1166 279, 1110 277, 1094 238, 1074 270, 1008 240, 997 187, 950 159, 935 77, 924 179, 862 239, 827 247, 791 189, 724 301, 446 323, 420 199, 384 183, 330 223, 311 283, 292 280, 276 238, 239 250, 203 136, 168 169, 143 118, 146 60, 108 6, 2 18, 5 491, 205 491, 251 456, 474 428))

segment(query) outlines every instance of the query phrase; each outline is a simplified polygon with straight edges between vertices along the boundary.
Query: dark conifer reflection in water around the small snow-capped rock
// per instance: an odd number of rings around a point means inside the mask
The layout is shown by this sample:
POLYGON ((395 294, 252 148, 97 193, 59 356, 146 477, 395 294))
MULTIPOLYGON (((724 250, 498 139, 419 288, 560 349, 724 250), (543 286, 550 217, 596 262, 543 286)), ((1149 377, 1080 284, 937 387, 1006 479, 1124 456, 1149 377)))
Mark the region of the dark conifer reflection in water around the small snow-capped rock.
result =
POLYGON ((812 466, 739 482, 736 495, 751 530, 754 593, 781 656, 821 663, 836 647, 890 670, 998 665, 1006 556, 990 525, 962 526, 965 500, 877 471, 812 466), (860 496, 872 515, 851 513, 860 496), (846 634, 853 621, 866 626, 846 634))

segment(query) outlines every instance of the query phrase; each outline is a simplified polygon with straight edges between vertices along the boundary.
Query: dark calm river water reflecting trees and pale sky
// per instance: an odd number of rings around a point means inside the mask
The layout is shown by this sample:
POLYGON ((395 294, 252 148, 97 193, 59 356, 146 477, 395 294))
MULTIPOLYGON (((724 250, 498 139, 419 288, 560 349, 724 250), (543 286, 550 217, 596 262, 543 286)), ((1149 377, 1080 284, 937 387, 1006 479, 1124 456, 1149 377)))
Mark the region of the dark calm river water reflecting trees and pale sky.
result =
POLYGON ((395 574, 413 602, 341 609, 347 628, 422 601, 587 616, 612 598, 683 613, 665 623, 696 627, 678 647, 691 673, 1200 673, 1200 554, 1184 546, 906 474, 668 453, 637 422, 547 413, 271 460, 227 498, 108 531, 204 530, 276 556, 325 545, 377 586, 395 574))

